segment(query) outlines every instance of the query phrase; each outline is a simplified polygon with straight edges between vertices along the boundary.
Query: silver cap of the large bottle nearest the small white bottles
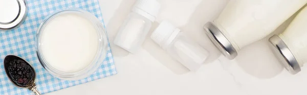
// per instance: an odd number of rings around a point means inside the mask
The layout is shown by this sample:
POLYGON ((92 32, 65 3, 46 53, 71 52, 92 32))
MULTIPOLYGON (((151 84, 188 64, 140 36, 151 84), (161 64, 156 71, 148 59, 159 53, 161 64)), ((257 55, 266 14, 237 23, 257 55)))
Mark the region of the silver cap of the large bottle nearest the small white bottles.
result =
POLYGON ((212 22, 207 22, 204 29, 210 40, 224 56, 228 59, 234 59, 237 56, 237 52, 230 41, 212 22))

